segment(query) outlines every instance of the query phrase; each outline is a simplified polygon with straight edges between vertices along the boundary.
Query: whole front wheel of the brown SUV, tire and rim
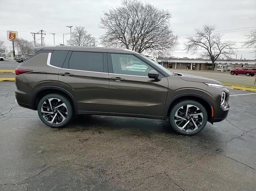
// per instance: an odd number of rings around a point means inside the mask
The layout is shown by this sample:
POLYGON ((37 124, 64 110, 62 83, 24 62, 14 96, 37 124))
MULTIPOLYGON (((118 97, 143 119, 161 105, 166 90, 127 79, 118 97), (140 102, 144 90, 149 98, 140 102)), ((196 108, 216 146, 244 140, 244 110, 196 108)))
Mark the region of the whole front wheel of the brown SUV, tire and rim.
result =
POLYGON ((170 112, 170 124, 179 134, 196 134, 203 130, 206 123, 206 109, 202 104, 194 100, 179 102, 170 112))

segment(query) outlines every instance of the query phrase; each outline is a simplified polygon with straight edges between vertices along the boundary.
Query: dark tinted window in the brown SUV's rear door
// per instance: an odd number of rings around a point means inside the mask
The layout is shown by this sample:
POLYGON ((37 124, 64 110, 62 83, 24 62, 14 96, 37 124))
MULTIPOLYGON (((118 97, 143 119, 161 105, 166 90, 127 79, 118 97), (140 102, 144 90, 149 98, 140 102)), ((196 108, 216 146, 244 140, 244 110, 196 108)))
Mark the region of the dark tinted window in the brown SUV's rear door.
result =
POLYGON ((103 53, 73 51, 69 69, 103 72, 103 53))

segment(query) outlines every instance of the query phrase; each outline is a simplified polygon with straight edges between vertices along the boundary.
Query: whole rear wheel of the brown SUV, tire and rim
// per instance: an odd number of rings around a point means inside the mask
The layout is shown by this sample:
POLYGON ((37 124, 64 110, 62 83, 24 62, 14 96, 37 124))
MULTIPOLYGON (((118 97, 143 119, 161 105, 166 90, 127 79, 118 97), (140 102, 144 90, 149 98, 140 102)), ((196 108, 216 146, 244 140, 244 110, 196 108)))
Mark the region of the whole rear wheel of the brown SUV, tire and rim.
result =
POLYGON ((42 122, 53 128, 66 125, 72 118, 73 113, 69 100, 59 94, 44 96, 38 102, 37 112, 42 122))

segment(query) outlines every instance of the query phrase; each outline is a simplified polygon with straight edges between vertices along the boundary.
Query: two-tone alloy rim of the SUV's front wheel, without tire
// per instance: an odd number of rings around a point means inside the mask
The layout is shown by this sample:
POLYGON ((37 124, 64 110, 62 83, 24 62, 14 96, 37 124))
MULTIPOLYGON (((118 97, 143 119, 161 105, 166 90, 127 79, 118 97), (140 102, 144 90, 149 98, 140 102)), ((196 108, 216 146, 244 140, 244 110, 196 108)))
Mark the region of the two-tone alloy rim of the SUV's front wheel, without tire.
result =
POLYGON ((181 106, 174 115, 176 126, 185 132, 197 130, 203 123, 204 116, 200 108, 194 105, 181 106))

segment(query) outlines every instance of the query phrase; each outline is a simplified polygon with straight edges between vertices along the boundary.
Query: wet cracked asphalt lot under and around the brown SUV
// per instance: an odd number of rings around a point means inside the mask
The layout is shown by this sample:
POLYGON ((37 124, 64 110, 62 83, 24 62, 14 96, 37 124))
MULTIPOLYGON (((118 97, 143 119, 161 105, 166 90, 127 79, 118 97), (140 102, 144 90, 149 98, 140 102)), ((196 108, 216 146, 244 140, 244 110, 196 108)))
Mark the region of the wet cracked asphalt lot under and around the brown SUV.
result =
POLYGON ((53 129, 14 89, 0 83, 1 191, 256 190, 256 95, 231 96, 227 120, 182 136, 168 121, 110 116, 53 129))

